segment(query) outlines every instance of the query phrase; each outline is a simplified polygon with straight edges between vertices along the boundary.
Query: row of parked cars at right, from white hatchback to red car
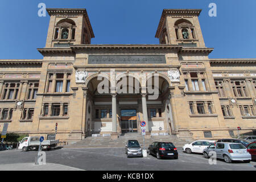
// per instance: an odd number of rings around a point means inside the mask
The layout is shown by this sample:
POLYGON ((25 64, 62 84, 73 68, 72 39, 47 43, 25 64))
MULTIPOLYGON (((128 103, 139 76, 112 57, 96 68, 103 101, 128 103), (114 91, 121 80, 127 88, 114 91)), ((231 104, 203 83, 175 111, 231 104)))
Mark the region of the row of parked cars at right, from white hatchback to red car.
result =
POLYGON ((244 138, 248 139, 248 136, 238 139, 218 139, 217 141, 196 140, 185 144, 183 152, 188 154, 192 152, 201 153, 205 158, 209 158, 212 154, 211 151, 214 151, 216 152, 216 158, 224 159, 226 163, 232 163, 233 160, 243 160, 249 163, 251 159, 256 159, 256 142, 244 138))

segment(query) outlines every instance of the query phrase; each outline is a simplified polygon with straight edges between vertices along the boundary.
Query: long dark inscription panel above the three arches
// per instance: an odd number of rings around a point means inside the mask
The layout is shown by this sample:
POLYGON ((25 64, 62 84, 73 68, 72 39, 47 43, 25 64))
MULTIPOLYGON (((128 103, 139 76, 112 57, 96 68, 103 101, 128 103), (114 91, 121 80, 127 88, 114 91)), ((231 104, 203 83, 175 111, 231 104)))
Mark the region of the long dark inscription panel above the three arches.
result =
POLYGON ((148 56, 89 56, 89 64, 166 64, 164 55, 148 56))

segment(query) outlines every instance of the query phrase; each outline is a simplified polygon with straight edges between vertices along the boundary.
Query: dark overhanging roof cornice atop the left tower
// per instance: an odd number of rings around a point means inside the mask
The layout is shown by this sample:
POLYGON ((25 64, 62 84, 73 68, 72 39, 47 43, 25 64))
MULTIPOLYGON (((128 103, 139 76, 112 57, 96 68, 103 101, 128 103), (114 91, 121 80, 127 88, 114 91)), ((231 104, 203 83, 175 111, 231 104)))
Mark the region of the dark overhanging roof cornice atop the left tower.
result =
POLYGON ((51 15, 73 15, 73 14, 82 14, 85 16, 86 22, 89 27, 90 35, 92 38, 94 38, 94 33, 92 29, 92 24, 90 24, 90 19, 87 14, 86 9, 56 9, 56 8, 47 8, 46 9, 48 14, 51 15))

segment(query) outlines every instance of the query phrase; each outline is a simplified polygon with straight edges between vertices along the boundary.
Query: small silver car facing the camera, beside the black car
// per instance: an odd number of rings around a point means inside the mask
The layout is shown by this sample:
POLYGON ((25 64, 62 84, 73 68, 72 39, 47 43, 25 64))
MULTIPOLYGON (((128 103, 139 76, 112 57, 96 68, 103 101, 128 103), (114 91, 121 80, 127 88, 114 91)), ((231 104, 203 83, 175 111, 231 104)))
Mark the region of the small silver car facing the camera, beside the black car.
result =
POLYGON ((140 156, 142 157, 141 145, 138 140, 128 140, 125 145, 125 154, 127 154, 127 158, 130 156, 140 156))

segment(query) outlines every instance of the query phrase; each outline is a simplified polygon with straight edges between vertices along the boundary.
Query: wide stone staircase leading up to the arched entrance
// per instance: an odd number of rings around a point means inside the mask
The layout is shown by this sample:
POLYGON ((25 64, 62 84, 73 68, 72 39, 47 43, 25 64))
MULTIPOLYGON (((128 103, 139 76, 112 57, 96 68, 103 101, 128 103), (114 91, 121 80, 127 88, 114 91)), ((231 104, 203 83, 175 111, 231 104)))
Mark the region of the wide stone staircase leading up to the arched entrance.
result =
MULTIPOLYGON (((87 137, 79 142, 73 143, 65 147, 75 147, 75 148, 104 148, 104 147, 125 147, 127 140, 138 140, 139 144, 143 147, 143 137, 138 134, 126 134, 120 136, 117 140, 112 140, 110 137, 87 137)), ((190 143, 190 139, 180 139, 175 135, 158 135, 151 136, 151 138, 145 138, 145 148, 152 142, 172 142, 175 147, 182 147, 185 143, 190 143)))

